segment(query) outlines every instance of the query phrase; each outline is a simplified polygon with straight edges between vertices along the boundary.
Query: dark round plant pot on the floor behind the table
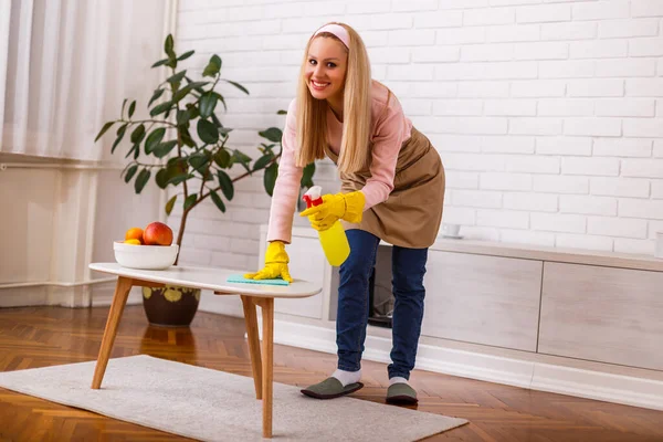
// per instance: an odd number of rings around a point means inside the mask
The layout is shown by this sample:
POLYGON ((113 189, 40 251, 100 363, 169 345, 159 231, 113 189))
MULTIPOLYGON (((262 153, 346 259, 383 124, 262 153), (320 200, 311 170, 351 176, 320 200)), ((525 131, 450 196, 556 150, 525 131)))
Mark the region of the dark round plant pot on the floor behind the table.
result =
POLYGON ((200 288, 165 286, 143 287, 143 307, 151 325, 188 327, 196 316, 200 288))

